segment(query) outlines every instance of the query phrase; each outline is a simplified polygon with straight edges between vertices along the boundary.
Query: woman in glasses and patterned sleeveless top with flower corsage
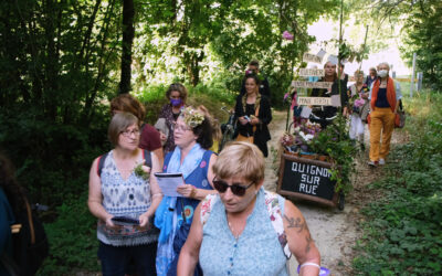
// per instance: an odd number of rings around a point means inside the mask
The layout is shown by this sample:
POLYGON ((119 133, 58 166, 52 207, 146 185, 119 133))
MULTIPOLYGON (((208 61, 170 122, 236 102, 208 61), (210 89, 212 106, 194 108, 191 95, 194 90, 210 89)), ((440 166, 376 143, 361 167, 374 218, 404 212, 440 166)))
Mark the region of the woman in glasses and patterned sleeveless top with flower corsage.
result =
POLYGON ((91 167, 87 204, 98 219, 98 257, 105 276, 123 276, 131 265, 138 275, 156 272, 158 230, 151 219, 162 195, 151 173, 161 164, 156 155, 138 148, 139 127, 133 114, 115 114, 108 127, 114 149, 91 167))

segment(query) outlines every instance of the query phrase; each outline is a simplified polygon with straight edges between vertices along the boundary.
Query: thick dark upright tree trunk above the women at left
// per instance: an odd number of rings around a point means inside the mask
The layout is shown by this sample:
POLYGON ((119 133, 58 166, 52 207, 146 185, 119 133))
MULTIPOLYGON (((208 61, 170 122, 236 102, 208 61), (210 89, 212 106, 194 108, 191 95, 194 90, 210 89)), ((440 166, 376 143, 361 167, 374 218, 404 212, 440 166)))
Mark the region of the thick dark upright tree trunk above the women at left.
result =
POLYGON ((134 42, 134 0, 123 1, 123 53, 122 53, 122 78, 119 82, 119 94, 130 91, 130 64, 131 45, 134 42))

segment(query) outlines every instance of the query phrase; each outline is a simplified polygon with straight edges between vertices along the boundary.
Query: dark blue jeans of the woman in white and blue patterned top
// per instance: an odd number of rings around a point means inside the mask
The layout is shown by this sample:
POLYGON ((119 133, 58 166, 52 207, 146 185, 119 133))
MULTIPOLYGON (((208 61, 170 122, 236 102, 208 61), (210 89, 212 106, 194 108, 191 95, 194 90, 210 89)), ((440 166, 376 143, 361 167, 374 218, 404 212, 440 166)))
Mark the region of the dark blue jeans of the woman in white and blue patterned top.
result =
POLYGON ((124 276, 127 272, 137 273, 138 276, 157 275, 156 256, 156 242, 134 246, 113 246, 99 242, 98 258, 103 276, 124 276))

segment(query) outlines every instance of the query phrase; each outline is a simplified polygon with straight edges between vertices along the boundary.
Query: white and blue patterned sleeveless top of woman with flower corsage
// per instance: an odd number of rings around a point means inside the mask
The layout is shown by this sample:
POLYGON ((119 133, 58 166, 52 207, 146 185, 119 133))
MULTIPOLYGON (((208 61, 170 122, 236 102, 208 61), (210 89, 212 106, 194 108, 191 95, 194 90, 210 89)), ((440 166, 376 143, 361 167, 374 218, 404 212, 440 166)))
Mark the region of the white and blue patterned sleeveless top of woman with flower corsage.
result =
MULTIPOLYGON (((103 206, 107 213, 138 219, 150 208, 149 181, 134 172, 124 180, 115 164, 113 150, 106 157, 101 179, 103 206)), ((159 232, 151 225, 149 223, 147 229, 125 225, 119 230, 112 230, 106 227, 104 221, 98 220, 97 237, 101 242, 114 246, 148 244, 158 240, 159 232)))

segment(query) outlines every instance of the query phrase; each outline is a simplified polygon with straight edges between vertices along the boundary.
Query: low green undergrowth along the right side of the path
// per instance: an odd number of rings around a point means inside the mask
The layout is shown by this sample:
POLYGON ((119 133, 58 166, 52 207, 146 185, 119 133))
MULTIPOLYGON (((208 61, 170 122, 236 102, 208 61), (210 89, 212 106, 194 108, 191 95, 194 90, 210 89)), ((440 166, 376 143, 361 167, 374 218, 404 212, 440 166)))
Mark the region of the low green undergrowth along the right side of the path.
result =
POLYGON ((433 118, 424 116, 408 121, 409 129, 414 130, 412 141, 393 150, 388 177, 370 187, 373 191, 385 191, 385 197, 364 210, 365 235, 354 259, 360 274, 442 272, 442 98, 431 97, 435 99, 431 105, 433 118))

